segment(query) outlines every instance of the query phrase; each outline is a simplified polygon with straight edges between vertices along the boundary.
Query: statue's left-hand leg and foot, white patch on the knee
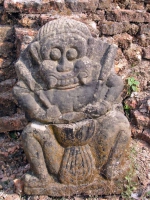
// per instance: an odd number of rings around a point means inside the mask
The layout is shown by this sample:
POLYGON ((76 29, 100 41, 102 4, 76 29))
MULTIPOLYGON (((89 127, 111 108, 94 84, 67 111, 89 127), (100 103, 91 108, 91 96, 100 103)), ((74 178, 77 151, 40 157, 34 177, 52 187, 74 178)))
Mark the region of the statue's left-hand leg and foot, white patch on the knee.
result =
POLYGON ((40 187, 54 182, 64 149, 58 144, 51 127, 30 123, 22 133, 26 157, 35 176, 26 176, 25 182, 32 187, 40 187), (30 179, 30 180, 29 180, 30 179))

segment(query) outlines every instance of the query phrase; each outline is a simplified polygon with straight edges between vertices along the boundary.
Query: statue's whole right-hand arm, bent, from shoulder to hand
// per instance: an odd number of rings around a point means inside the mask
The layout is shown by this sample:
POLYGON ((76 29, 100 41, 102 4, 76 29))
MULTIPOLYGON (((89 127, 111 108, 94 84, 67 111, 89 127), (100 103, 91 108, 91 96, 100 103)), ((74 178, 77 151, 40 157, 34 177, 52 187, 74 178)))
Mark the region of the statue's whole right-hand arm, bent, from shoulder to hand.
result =
POLYGON ((95 101, 84 108, 85 113, 93 118, 105 115, 111 109, 122 90, 122 79, 114 72, 110 73, 106 82, 99 81, 95 101))

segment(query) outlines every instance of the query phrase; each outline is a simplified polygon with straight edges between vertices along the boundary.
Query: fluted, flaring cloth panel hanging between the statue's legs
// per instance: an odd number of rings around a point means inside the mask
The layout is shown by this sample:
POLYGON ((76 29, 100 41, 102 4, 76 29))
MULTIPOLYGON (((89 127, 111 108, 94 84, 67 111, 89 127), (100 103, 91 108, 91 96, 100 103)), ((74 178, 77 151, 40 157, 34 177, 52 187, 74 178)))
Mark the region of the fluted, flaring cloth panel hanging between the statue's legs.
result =
POLYGON ((94 180, 95 163, 89 145, 67 147, 59 174, 64 184, 91 183, 94 180))

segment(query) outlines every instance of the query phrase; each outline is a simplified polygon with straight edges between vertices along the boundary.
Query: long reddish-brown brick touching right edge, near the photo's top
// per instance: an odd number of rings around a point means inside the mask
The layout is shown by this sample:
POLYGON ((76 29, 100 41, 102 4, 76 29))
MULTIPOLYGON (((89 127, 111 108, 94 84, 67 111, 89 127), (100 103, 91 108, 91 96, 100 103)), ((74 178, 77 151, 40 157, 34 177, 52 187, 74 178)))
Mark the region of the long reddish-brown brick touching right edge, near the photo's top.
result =
POLYGON ((111 10, 106 11, 106 18, 117 22, 150 22, 150 13, 133 10, 111 10))

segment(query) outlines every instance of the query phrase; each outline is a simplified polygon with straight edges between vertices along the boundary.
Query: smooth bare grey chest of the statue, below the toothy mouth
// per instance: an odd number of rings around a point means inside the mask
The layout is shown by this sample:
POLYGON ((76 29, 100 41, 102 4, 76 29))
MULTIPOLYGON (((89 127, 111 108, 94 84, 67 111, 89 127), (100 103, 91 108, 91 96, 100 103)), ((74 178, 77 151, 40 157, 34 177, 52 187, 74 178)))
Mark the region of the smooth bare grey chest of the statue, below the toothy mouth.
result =
POLYGON ((62 113, 80 111, 81 108, 94 100, 96 82, 67 90, 51 89, 44 91, 52 105, 58 106, 62 113))

